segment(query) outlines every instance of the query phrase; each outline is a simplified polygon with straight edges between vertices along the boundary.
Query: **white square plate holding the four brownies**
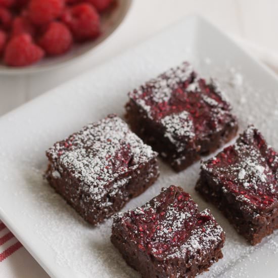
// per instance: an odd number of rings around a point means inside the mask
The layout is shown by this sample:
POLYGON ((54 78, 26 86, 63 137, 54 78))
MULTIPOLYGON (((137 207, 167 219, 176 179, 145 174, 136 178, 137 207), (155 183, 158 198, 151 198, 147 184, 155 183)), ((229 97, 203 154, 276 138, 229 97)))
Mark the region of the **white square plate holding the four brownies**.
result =
MULTIPOLYGON (((0 119, 0 218, 53 277, 139 277, 110 243, 112 220, 92 228, 42 178, 44 151, 108 113, 122 116, 127 92, 178 65, 193 63, 217 77, 240 119, 254 123, 278 150, 278 80, 232 40, 199 17, 169 27, 109 63, 25 104, 0 119)), ((249 246, 195 192, 199 163, 179 174, 160 162, 159 180, 124 210, 144 204, 176 184, 209 207, 226 231, 224 258, 202 277, 277 277, 278 233, 249 246), (267 274, 266 274, 267 273, 267 274)))

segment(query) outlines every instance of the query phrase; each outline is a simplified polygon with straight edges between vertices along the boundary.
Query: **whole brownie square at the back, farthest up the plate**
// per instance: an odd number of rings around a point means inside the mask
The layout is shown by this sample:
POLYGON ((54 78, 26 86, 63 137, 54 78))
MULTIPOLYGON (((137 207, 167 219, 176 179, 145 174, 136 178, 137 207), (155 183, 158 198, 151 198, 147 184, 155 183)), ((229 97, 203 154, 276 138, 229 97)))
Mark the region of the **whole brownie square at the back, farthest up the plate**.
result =
POLYGON ((219 86, 184 62, 129 92, 131 129, 176 171, 234 137, 238 123, 219 86))

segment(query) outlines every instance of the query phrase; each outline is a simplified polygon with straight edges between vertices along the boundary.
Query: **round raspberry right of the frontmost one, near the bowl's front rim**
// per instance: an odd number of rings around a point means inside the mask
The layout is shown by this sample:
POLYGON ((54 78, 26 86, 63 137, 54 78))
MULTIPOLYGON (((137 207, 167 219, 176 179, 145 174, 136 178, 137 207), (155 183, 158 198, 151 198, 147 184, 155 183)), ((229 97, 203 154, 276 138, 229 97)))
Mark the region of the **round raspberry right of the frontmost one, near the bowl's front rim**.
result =
POLYGON ((59 55, 69 50, 72 35, 64 23, 52 22, 39 40, 39 45, 48 55, 59 55))

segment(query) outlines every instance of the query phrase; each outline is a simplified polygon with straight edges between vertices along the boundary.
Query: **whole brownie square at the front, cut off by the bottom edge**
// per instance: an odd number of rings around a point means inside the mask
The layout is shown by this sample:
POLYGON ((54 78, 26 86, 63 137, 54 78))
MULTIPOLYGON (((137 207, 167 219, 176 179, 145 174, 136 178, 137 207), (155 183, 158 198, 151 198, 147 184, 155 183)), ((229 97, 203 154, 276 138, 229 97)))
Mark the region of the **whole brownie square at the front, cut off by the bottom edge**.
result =
POLYGON ((222 258, 225 234, 208 209, 170 186, 114 216, 111 241, 142 277, 195 277, 222 258))

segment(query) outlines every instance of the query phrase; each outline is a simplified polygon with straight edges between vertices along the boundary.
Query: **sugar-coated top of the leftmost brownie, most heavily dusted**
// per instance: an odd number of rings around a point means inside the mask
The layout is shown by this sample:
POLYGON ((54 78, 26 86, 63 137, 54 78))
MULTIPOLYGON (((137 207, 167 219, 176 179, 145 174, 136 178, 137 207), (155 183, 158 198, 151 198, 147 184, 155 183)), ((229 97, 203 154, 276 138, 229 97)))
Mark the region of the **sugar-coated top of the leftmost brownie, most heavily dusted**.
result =
POLYGON ((92 199, 101 200, 111 191, 108 184, 114 182, 111 194, 115 195, 128 181, 117 180, 119 177, 157 154, 125 122, 111 115, 56 143, 47 155, 56 169, 53 177, 60 178, 64 171, 70 172, 83 184, 82 190, 92 199))

